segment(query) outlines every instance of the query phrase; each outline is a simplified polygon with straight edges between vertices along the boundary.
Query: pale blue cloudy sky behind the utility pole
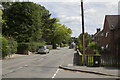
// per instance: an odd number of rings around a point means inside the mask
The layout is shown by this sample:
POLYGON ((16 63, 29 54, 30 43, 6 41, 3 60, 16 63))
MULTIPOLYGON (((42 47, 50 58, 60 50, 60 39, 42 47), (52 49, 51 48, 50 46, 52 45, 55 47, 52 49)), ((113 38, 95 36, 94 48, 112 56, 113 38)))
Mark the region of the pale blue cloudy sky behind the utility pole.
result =
MULTIPOLYGON (((72 36, 82 33, 80 0, 29 0, 45 6, 61 24, 71 28, 72 36)), ((84 0, 85 32, 94 34, 103 29, 105 15, 118 15, 118 0, 84 0)))

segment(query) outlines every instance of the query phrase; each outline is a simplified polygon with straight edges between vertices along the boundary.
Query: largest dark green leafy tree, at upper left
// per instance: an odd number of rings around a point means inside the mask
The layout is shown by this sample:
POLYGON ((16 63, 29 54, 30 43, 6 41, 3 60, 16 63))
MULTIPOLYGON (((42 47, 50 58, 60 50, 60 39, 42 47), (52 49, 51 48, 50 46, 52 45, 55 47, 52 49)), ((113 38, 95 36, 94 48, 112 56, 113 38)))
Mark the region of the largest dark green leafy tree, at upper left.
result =
POLYGON ((26 43, 32 40, 39 41, 41 38, 42 17, 49 11, 44 7, 32 2, 15 2, 6 8, 3 19, 3 34, 13 36, 17 42, 26 43))

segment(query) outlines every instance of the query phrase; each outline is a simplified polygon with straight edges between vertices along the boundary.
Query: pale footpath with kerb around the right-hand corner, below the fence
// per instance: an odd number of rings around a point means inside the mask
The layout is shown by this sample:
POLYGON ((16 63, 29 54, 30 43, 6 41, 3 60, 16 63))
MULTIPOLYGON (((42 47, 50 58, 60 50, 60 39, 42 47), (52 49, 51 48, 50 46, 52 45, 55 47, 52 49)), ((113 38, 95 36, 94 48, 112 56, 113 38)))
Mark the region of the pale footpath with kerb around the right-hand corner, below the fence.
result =
MULTIPOLYGON (((63 63, 59 66, 60 69, 76 71, 76 72, 85 72, 98 75, 106 76, 115 76, 120 78, 120 69, 114 67, 86 67, 86 66, 77 66, 75 54, 77 51, 71 49, 72 53, 66 54, 63 60, 63 63)), ((79 53, 81 54, 81 53, 79 53)))

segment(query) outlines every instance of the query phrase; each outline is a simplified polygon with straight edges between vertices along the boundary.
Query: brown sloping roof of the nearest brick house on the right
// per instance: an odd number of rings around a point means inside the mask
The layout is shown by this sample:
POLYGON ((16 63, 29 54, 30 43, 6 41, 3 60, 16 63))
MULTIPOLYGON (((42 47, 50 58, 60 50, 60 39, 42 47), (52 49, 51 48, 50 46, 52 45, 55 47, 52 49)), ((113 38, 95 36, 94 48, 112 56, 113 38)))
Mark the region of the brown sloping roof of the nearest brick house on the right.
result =
POLYGON ((105 16, 110 30, 120 28, 120 15, 106 15, 105 16))

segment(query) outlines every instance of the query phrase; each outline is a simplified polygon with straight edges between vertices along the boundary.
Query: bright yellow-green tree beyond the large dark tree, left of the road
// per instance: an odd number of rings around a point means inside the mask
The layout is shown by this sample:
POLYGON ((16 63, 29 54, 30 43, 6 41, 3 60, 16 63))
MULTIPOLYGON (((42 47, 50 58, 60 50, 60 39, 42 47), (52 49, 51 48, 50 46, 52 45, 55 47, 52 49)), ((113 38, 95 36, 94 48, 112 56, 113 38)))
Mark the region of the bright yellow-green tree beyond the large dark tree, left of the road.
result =
POLYGON ((72 33, 72 30, 70 30, 70 28, 67 28, 65 27, 65 25, 60 25, 60 24, 56 24, 57 27, 54 31, 54 34, 53 34, 53 39, 52 39, 52 44, 53 44, 53 47, 58 43, 62 43, 62 41, 69 41, 69 39, 71 38, 71 33, 72 33))

